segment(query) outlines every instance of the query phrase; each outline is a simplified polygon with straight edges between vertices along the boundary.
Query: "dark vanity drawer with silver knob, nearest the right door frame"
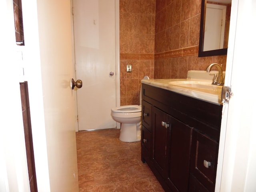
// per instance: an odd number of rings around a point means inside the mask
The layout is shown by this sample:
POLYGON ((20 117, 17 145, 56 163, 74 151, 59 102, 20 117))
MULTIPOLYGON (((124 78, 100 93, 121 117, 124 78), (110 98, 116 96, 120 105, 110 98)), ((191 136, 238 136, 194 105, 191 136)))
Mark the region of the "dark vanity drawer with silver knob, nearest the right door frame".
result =
POLYGON ((214 191, 218 158, 218 143, 193 131, 190 172, 209 191, 214 191))

